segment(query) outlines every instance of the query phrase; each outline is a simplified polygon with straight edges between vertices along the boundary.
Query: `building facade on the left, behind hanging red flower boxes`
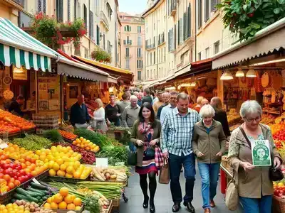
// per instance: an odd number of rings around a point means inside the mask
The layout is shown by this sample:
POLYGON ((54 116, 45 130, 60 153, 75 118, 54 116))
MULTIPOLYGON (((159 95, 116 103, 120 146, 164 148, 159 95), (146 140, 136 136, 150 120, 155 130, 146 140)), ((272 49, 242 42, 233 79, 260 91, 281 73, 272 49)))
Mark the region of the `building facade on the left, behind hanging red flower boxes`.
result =
POLYGON ((110 65, 118 65, 118 0, 0 0, 1 16, 19 27, 28 27, 33 14, 43 12, 55 16, 58 22, 66 23, 82 18, 87 33, 81 39, 81 48, 76 51, 73 44, 62 45, 62 49, 73 55, 90 58, 95 48, 110 53, 110 65))

